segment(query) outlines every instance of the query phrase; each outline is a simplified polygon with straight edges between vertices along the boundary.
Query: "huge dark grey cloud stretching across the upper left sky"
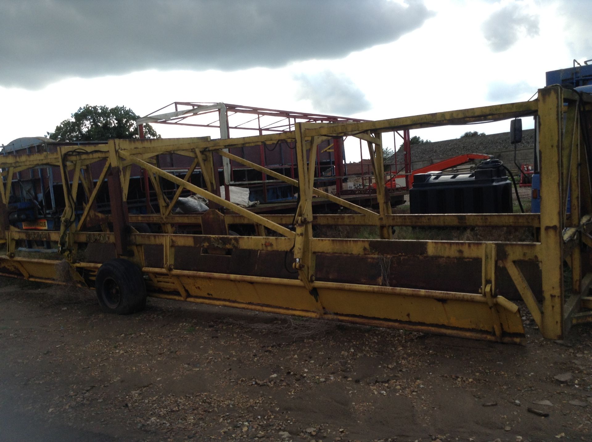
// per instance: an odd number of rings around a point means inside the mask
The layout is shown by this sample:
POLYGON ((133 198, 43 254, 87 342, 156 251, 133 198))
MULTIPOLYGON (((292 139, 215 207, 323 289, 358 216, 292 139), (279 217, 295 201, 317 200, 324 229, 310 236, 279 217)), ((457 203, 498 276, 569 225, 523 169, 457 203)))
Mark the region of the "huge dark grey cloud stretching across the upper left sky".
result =
POLYGON ((0 85, 334 59, 432 15, 422 0, 2 0, 0 85))

